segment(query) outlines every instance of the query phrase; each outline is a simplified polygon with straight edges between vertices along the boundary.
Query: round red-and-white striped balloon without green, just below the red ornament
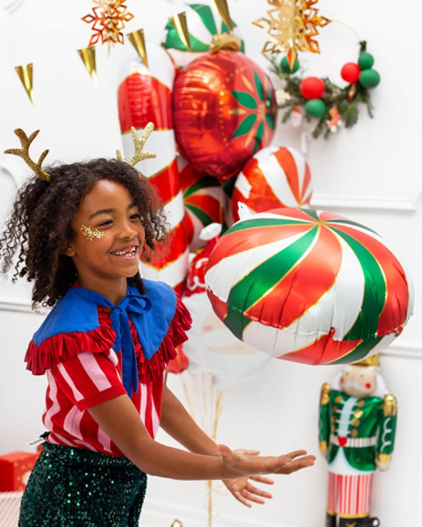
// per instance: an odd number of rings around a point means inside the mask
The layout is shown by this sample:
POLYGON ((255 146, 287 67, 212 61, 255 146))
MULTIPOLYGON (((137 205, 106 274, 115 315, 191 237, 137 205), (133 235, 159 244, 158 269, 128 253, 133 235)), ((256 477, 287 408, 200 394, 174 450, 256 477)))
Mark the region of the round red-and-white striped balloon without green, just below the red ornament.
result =
POLYGON ((257 152, 239 173, 232 196, 233 217, 239 219, 239 202, 252 212, 264 212, 301 207, 309 204, 311 196, 311 174, 303 155, 274 145, 257 152))

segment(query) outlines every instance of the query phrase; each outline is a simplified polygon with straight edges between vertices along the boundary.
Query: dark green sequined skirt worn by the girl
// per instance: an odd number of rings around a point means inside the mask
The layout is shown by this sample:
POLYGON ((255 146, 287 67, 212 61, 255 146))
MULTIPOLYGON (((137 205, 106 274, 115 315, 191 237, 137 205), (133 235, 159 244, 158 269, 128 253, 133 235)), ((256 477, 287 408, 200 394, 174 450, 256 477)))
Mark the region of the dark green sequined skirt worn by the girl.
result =
POLYGON ((43 444, 19 527, 138 527, 146 474, 126 457, 43 444))

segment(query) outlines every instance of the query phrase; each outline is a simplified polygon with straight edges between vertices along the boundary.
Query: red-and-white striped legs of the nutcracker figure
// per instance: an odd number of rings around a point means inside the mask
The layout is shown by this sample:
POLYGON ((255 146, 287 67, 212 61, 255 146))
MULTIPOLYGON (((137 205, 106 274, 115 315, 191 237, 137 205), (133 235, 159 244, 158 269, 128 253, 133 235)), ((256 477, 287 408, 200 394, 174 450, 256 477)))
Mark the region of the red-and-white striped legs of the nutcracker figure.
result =
POLYGON ((373 479, 373 472, 353 476, 329 472, 327 513, 340 518, 369 516, 373 479))

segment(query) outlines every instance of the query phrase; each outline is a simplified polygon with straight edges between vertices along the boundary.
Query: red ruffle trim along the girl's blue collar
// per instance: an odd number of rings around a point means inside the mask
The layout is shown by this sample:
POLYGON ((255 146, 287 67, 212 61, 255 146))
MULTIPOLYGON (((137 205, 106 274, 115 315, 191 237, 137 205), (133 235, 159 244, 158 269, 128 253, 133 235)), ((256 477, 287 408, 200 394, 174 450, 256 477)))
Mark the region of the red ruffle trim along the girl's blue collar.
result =
MULTIPOLYGON (((31 340, 26 351, 26 369, 33 375, 43 375, 47 369, 73 357, 80 352, 106 353, 113 347, 115 331, 111 327, 111 319, 107 310, 98 308, 100 327, 92 331, 75 331, 62 333, 47 338, 40 346, 31 340)), ((180 297, 177 297, 176 311, 169 330, 162 340, 159 349, 149 359, 145 360, 138 335, 129 319, 135 353, 138 357, 139 380, 142 383, 155 380, 164 371, 166 364, 176 356, 176 347, 188 339, 186 331, 190 329, 192 318, 180 297)))

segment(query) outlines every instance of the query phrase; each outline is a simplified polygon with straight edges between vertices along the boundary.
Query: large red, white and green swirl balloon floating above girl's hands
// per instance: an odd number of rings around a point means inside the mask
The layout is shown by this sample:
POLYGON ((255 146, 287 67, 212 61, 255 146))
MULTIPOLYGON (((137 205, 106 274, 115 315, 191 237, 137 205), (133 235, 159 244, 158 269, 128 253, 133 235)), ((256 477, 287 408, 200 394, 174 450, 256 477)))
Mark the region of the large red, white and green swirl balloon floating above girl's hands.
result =
POLYGON ((276 209, 240 220, 205 272, 213 309, 235 336, 300 363, 378 353, 413 311, 411 278, 385 240, 329 212, 276 209))

